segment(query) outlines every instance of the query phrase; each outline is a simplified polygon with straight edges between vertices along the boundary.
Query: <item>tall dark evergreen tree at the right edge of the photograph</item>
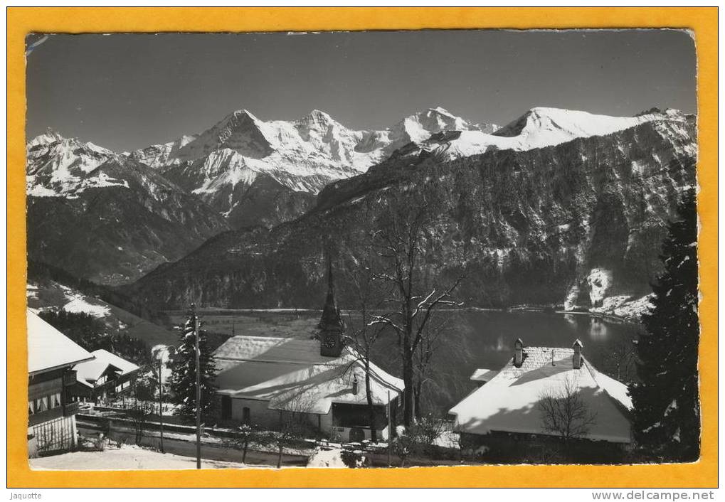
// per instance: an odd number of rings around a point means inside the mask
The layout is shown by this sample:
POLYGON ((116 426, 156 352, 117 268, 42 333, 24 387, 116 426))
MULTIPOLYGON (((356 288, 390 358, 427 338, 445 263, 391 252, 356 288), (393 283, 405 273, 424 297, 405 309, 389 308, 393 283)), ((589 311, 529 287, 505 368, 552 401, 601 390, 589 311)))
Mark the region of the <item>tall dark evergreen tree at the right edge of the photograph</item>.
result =
POLYGON ((631 389, 634 439, 660 459, 694 461, 700 454, 697 388, 697 208, 685 193, 679 218, 668 225, 660 259, 664 272, 653 285, 653 309, 642 316, 637 375, 631 389))

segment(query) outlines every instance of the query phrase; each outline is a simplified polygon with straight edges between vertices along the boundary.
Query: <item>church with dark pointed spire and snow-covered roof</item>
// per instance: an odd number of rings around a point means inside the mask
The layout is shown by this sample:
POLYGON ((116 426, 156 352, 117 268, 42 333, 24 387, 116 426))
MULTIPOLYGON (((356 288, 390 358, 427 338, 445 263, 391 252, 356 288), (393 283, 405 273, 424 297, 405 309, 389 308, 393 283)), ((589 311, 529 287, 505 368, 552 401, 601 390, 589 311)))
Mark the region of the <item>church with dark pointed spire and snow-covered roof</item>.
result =
POLYGON ((315 338, 233 336, 214 353, 220 423, 275 429, 294 421, 310 435, 358 442, 389 437, 397 424, 403 382, 370 362, 370 423, 365 367, 345 343, 345 326, 328 273, 328 293, 315 338))

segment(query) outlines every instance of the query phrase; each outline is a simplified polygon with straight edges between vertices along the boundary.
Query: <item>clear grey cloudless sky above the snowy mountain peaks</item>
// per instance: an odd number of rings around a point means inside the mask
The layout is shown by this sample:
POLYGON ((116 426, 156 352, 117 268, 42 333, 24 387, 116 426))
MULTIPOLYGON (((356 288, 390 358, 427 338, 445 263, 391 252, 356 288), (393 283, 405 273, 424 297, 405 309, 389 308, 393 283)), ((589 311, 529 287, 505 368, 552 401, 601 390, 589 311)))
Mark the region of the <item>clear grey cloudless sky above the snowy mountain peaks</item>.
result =
POLYGON ((50 35, 27 61, 28 136, 52 127, 116 151, 242 108, 322 109, 356 129, 435 106, 499 125, 533 106, 696 111, 695 43, 674 30, 50 35))

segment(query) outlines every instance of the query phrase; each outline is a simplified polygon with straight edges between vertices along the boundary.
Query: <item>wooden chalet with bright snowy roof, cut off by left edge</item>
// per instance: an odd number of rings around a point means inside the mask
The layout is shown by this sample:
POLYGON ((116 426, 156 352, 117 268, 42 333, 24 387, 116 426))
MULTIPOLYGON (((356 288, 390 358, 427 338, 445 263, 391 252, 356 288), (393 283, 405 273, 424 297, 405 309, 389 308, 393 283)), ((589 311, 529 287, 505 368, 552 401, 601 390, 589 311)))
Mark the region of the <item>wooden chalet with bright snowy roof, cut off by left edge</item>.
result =
POLYGON ((77 444, 75 414, 70 401, 76 364, 93 355, 62 332, 28 311, 28 453, 67 451, 77 444))

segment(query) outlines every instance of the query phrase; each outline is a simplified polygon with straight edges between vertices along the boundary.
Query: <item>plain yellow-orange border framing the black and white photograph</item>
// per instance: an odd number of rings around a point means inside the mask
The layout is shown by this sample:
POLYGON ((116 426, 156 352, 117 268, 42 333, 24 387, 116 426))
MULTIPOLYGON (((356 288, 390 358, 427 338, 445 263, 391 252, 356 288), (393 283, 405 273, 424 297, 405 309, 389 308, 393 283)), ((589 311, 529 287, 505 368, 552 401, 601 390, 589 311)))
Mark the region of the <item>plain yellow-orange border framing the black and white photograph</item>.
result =
POLYGON ((18 8, 7 9, 7 483, 101 486, 715 487, 717 485, 717 8, 18 8), (419 28, 689 28, 698 60, 703 456, 650 466, 33 472, 28 469, 25 343, 25 59, 29 32, 394 30, 419 28))

